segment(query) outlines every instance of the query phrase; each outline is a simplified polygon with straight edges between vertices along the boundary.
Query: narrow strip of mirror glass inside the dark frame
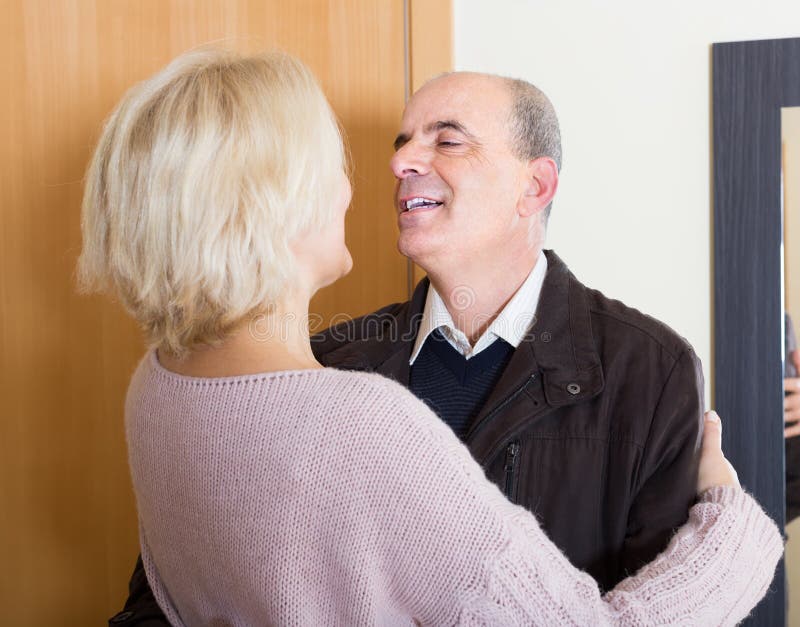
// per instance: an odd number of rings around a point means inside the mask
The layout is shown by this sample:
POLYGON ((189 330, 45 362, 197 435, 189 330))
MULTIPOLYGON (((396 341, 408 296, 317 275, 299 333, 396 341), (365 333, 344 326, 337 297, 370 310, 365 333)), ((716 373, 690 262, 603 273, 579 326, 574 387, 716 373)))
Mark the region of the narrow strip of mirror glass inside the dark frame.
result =
MULTIPOLYGON (((786 329, 784 338, 786 419, 786 585, 787 624, 800 627, 800 434, 795 434, 795 399, 800 399, 800 107, 781 111, 781 186, 783 202, 783 276, 786 329), (795 353, 795 354, 793 354, 795 353)), ((800 403, 798 403, 800 405, 800 403)))

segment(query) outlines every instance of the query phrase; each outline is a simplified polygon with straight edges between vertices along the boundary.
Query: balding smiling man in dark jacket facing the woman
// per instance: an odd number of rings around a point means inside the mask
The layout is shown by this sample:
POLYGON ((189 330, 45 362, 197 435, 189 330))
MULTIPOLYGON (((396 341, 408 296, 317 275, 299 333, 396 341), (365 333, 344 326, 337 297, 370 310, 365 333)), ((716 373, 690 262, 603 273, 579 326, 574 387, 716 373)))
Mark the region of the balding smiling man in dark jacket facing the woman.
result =
MULTIPOLYGON (((317 336, 314 352, 407 385, 610 588, 686 520, 703 418, 698 359, 543 250, 561 145, 534 86, 438 77, 409 101, 395 149, 398 247, 428 278, 411 301, 317 336)), ((112 622, 163 624, 158 614, 139 567, 112 622)))

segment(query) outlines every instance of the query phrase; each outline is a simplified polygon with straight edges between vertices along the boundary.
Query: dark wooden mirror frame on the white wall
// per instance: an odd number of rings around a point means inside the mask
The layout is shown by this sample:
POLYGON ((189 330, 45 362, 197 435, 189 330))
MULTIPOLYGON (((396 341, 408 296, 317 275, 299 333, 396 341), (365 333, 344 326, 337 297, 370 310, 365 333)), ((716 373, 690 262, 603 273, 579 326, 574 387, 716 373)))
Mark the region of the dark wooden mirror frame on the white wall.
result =
MULTIPOLYGON (((723 445, 783 530, 781 108, 800 38, 714 44, 714 372, 723 445)), ((751 625, 785 624, 783 562, 751 625)))

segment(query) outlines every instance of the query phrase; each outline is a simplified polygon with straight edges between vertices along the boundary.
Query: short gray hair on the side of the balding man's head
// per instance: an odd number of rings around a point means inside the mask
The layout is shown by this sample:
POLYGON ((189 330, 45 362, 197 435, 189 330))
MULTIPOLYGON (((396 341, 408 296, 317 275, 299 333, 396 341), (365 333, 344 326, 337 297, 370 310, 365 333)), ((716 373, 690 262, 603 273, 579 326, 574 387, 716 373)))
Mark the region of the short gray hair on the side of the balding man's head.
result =
MULTIPOLYGON (((535 85, 517 78, 505 78, 511 92, 511 150, 530 161, 550 157, 561 171, 561 131, 553 103, 535 85)), ((551 202, 544 210, 544 222, 550 217, 551 202)))

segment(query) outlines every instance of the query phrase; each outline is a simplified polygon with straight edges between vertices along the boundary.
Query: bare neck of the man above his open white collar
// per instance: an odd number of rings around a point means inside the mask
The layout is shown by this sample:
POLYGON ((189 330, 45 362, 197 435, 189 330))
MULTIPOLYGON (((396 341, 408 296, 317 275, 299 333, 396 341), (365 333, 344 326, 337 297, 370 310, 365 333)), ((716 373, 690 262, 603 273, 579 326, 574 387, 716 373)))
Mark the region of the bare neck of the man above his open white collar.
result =
POLYGON ((541 249, 510 264, 458 271, 428 271, 455 327, 474 345, 505 308, 536 265, 541 249))

